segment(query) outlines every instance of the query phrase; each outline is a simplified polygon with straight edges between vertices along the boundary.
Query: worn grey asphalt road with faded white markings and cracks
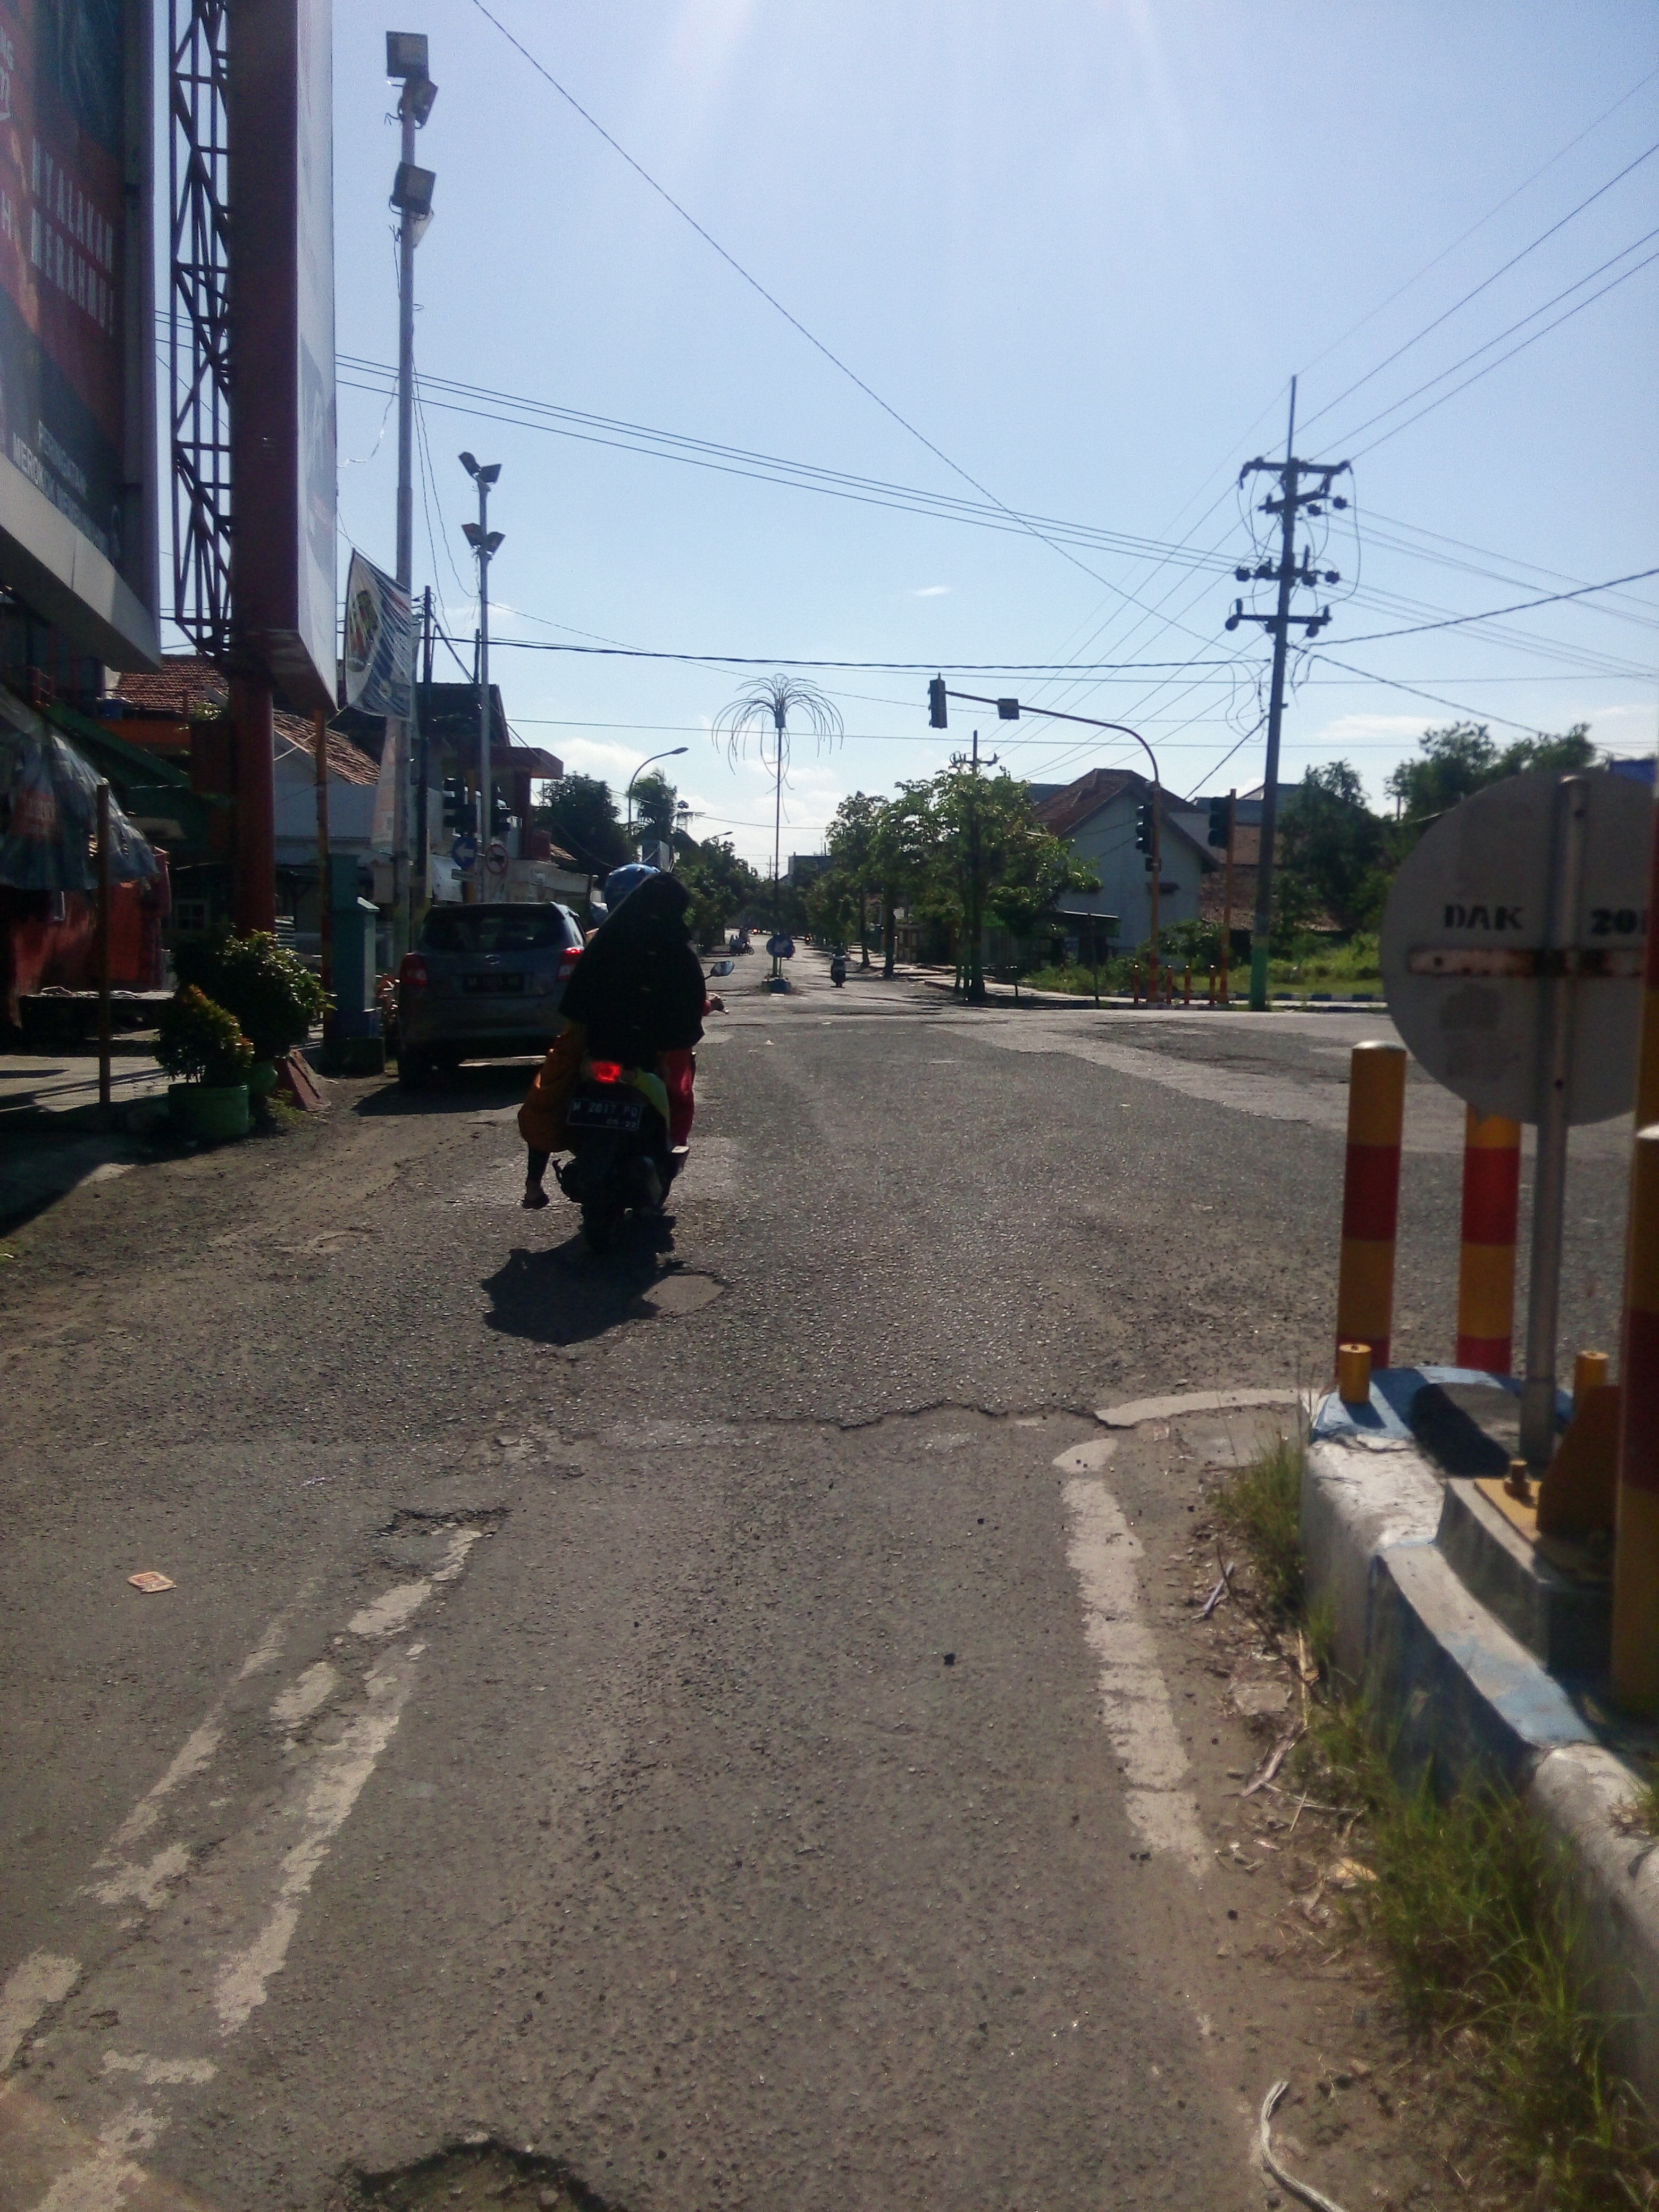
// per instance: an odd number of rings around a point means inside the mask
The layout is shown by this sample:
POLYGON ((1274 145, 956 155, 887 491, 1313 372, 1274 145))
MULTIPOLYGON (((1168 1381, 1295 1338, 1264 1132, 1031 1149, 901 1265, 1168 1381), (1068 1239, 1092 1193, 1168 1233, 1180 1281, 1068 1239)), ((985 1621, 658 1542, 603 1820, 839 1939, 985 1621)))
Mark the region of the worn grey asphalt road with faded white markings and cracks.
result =
MULTIPOLYGON (((467 2141, 626 2212, 1261 2201, 1336 2028, 1234 1955, 1250 1739, 1155 1601, 1261 1420, 1093 1409, 1325 1378, 1387 1024, 796 969, 657 1245, 518 1210, 524 1068, 7 1241, 0 2212, 453 2201, 467 2141)), ((1405 1358, 1460 1141, 1413 1075, 1405 1358)), ((1588 1133, 1566 1349, 1621 1175, 1588 1133)))

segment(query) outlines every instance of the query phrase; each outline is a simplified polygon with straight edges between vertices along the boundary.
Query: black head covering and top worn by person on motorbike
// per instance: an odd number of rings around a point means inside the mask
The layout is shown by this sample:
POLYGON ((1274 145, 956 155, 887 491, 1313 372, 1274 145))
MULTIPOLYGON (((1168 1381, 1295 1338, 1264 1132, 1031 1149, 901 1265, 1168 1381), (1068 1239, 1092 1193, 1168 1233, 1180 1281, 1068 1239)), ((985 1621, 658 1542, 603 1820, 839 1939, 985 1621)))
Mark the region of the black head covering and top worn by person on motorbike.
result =
POLYGON ((650 876, 599 927, 564 989, 564 1015, 588 1031, 588 1051, 630 1068, 684 1051, 703 1033, 703 962, 686 938, 690 894, 650 876))

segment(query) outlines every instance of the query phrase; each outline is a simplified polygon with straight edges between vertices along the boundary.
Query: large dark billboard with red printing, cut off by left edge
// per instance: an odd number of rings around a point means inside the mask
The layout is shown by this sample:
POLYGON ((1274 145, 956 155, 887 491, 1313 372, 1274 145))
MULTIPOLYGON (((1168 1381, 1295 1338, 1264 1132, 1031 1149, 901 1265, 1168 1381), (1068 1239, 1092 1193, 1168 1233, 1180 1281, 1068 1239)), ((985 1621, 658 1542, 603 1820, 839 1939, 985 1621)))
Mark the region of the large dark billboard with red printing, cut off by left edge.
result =
POLYGON ((0 582, 155 666, 150 0, 0 0, 0 582))

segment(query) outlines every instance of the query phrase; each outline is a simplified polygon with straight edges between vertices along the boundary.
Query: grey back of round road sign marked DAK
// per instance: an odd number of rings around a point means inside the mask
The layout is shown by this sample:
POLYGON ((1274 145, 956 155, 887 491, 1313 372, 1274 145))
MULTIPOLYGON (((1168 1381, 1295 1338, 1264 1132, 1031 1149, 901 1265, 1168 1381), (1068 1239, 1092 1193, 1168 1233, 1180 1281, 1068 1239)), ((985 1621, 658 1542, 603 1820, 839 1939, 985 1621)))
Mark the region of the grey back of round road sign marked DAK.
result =
POLYGON ((1383 987, 1416 1060, 1478 1113, 1537 1121, 1544 1000, 1573 978, 1568 1121, 1630 1113, 1652 792, 1586 770, 1584 880, 1551 945, 1559 774, 1509 776, 1451 807, 1400 867, 1383 918, 1383 987))

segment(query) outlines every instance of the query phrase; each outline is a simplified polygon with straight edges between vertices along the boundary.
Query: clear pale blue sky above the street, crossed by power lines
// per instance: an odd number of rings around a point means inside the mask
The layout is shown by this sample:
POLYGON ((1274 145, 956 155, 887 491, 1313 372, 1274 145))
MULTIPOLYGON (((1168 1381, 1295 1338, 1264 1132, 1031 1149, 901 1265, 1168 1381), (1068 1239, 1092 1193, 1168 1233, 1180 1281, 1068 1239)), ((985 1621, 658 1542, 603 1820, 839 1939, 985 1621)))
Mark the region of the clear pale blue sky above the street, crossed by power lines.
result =
POLYGON ((1265 604, 1232 580, 1254 557, 1237 480, 1283 453, 1292 376, 1296 451, 1352 460, 1352 507, 1321 524, 1340 584, 1281 772, 1349 759, 1383 803, 1464 714, 1655 748, 1659 575, 1416 628, 1659 566, 1652 7, 343 0, 341 584, 352 544, 394 564, 387 29, 427 31, 438 82, 416 588, 471 661, 456 456, 500 460, 491 670, 568 770, 622 787, 686 745, 664 765, 692 830, 770 865, 770 774, 710 730, 796 659, 898 666, 794 670, 845 737, 796 737, 785 856, 973 728, 1033 781, 1141 759, 1037 703, 1137 728, 1179 792, 1256 785, 1270 648, 1223 624, 1265 604), (1022 719, 953 703, 931 732, 933 670, 1022 719))

